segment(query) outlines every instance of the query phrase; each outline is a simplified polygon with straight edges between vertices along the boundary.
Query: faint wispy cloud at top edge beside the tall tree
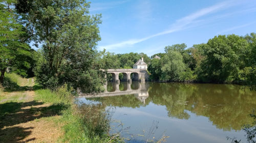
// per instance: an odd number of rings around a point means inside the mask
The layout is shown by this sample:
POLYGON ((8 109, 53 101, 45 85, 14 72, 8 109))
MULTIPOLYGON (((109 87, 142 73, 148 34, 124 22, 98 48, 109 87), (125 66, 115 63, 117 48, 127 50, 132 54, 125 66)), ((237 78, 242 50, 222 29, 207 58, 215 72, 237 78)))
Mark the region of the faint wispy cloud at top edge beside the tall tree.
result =
POLYGON ((104 3, 92 3, 90 11, 101 11, 101 10, 106 10, 106 9, 112 9, 117 7, 118 5, 124 4, 128 2, 126 1, 114 1, 114 2, 104 2, 104 3))

